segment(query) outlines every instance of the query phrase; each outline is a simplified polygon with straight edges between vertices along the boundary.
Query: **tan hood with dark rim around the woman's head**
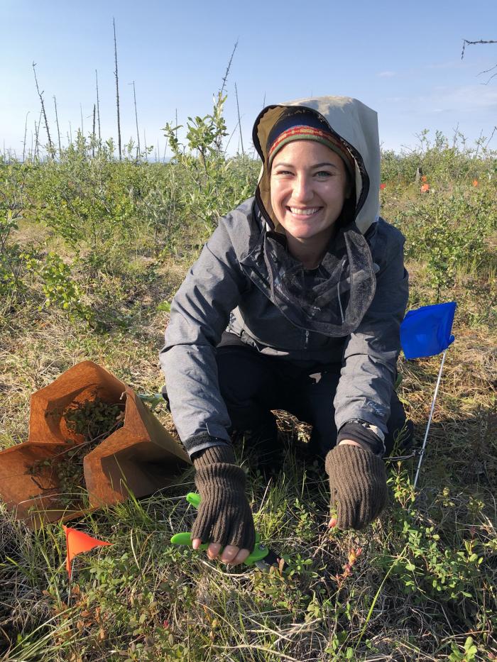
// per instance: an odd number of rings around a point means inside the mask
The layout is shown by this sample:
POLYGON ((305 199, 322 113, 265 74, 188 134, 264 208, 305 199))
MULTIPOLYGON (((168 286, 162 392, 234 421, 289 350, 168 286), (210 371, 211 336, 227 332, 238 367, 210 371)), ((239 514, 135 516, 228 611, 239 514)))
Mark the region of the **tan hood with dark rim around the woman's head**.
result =
POLYGON ((302 106, 321 115, 329 128, 344 144, 355 162, 356 170, 356 225, 362 234, 378 219, 380 211, 380 142, 376 112, 349 96, 317 96, 297 99, 278 106, 267 106, 253 126, 253 144, 263 161, 256 199, 266 220, 275 224, 269 177, 267 171, 266 142, 268 135, 287 106, 302 106))

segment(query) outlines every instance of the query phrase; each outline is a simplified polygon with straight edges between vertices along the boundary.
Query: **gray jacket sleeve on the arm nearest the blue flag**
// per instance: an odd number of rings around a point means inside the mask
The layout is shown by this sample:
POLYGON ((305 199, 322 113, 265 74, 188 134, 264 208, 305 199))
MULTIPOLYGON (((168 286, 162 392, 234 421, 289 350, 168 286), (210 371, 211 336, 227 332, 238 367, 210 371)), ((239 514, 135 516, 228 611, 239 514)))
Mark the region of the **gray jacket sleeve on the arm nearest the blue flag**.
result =
MULTIPOLYGON (((382 221, 386 226, 385 221, 382 221)), ((404 237, 393 226, 381 241, 381 268, 376 293, 366 315, 344 347, 340 380, 334 397, 337 430, 361 419, 387 434, 390 403, 400 353, 400 323, 408 304, 404 237)))

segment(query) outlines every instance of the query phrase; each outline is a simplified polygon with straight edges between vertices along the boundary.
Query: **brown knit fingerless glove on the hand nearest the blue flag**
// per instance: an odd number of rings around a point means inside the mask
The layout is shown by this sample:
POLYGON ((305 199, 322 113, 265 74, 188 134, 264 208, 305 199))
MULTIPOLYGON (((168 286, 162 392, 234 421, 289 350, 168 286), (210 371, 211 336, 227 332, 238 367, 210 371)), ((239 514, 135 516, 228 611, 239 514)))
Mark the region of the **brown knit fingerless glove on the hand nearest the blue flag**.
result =
POLYGON ((363 529, 373 522, 387 500, 383 460, 364 448, 343 443, 327 453, 324 466, 339 529, 363 529))

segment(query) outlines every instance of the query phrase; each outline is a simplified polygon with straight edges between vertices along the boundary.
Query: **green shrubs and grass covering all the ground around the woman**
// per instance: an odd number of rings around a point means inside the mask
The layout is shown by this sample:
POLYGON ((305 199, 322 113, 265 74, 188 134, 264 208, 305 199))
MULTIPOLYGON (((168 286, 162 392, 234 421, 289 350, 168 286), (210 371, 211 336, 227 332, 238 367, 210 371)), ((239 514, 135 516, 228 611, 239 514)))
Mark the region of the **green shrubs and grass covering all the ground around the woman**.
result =
MULTIPOLYGON (((80 360, 139 392, 160 389, 175 289, 256 184, 258 162, 224 156, 222 103, 189 118, 186 145, 165 127, 167 164, 131 150, 119 162, 110 142, 81 135, 59 160, 0 162, 0 448, 26 441, 31 393, 80 360)), ((236 449, 283 572, 226 570, 169 544, 194 517, 190 470, 163 494, 84 518, 113 545, 78 557, 71 586, 60 524, 33 532, 0 505, 0 660, 496 658, 496 160, 484 141, 428 137, 384 155, 381 191, 383 216, 406 236, 410 307, 458 303, 419 490, 415 462, 391 460, 381 519, 330 531, 324 468, 300 458, 309 430, 280 412, 285 466, 268 487, 242 436, 236 449)), ((399 360, 418 442, 438 368, 437 357, 399 360)))

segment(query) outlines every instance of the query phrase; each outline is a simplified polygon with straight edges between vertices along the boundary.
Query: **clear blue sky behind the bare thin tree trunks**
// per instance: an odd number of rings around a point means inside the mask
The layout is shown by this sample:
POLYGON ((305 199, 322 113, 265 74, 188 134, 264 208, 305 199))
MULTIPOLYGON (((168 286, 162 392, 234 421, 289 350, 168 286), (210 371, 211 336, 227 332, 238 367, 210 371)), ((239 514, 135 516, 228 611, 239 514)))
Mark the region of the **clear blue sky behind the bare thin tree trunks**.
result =
MULTIPOLYGON (((123 140, 136 136, 134 80, 141 142, 145 131, 161 154, 161 128, 176 109, 179 123, 212 109, 236 40, 226 121, 234 131, 236 82, 246 148, 264 99, 355 96, 378 111, 383 147, 395 150, 416 145, 424 128, 452 138, 459 126, 472 141, 497 123, 497 77, 485 85, 491 72, 479 75, 497 64, 497 44, 469 46, 461 61, 463 38, 497 39, 495 0, 2 0, 0 148, 22 153, 28 112, 31 144, 40 112, 33 61, 52 133, 53 95, 63 143, 69 123, 73 135, 80 126, 80 104, 91 131, 97 69, 102 136, 116 137, 113 16, 123 140)), ((238 145, 235 134, 229 150, 238 145)))

